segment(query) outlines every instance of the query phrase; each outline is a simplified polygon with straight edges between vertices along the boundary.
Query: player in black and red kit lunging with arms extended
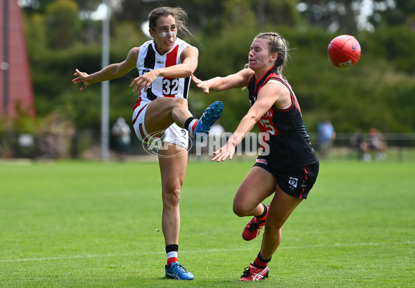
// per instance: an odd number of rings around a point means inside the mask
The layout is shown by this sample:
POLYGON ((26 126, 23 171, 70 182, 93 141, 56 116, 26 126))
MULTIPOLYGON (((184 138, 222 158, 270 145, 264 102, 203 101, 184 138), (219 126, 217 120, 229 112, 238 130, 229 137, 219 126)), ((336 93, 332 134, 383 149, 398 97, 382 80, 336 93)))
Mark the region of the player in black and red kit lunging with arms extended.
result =
POLYGON ((240 121, 229 141, 212 161, 232 159, 236 146, 255 123, 261 130, 264 150, 240 185, 233 200, 236 215, 254 216, 242 232, 244 240, 254 239, 265 226, 263 242, 242 281, 267 278, 268 263, 281 243, 281 226, 308 196, 319 172, 319 160, 312 148, 301 109, 282 71, 288 44, 278 33, 260 33, 249 51, 247 68, 227 77, 193 82, 204 93, 248 87, 251 109, 240 121), (262 202, 274 194, 270 206, 262 202))

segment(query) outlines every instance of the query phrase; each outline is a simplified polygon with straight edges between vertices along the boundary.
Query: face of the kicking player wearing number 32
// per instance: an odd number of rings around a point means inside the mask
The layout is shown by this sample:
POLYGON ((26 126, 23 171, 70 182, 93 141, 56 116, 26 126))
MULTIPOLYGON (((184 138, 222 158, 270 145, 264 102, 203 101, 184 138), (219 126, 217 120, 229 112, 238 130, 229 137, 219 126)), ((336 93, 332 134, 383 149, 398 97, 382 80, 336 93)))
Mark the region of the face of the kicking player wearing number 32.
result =
POLYGON ((177 26, 176 19, 172 15, 161 16, 157 19, 155 31, 150 29, 150 35, 156 42, 157 51, 164 54, 173 48, 176 41, 177 26))

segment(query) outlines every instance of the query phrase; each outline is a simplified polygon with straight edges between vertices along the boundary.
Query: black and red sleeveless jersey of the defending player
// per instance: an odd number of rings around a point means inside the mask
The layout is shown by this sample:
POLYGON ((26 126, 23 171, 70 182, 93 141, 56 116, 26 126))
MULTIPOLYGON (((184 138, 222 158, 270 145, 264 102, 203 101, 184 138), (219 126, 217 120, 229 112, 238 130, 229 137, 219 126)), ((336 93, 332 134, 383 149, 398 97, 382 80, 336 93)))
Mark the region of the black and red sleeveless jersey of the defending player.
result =
POLYGON ((319 160, 310 143, 310 137, 301 116, 301 109, 290 84, 272 67, 259 80, 255 75, 249 80, 249 101, 251 106, 256 102, 258 92, 270 80, 281 82, 290 91, 292 105, 286 109, 272 107, 258 120, 261 132, 269 134, 268 146, 258 158, 272 161, 277 170, 292 170, 317 163, 319 160), (268 155, 266 155, 268 153, 268 155))

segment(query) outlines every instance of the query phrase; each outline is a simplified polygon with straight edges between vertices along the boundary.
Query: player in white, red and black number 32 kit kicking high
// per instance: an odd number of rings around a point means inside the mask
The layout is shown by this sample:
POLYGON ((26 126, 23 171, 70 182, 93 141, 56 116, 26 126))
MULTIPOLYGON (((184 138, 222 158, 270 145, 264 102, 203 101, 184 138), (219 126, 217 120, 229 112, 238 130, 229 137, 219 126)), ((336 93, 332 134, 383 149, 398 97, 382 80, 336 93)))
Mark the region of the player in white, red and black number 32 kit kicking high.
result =
MULTIPOLYGON (((197 48, 177 37, 189 32, 185 24, 186 12, 181 8, 156 8, 148 15, 149 31, 153 38, 134 47, 121 63, 110 64, 88 75, 76 69, 73 83, 83 83, 80 91, 89 85, 119 78, 135 67, 139 77, 131 87, 139 92, 134 105, 132 123, 136 136, 148 143, 162 137, 158 151, 163 201, 162 229, 166 244, 166 277, 192 280, 177 259, 179 249, 180 191, 187 165, 188 132, 194 136, 209 133, 211 125, 222 114, 222 102, 209 106, 197 120, 188 111, 187 96, 191 74, 197 67, 197 48)), ((144 175, 143 175, 144 176, 144 175)), ((138 179, 139 180, 139 179, 138 179)))

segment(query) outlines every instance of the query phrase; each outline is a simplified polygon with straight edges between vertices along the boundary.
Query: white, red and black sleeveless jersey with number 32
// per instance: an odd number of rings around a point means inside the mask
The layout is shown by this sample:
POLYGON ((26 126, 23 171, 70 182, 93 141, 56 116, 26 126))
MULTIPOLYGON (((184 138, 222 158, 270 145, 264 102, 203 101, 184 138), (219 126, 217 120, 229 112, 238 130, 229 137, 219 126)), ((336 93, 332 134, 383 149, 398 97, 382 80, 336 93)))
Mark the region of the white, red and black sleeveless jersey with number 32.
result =
MULTIPOLYGON (((154 41, 145 42, 140 47, 139 57, 136 67, 139 69, 139 75, 150 72, 154 69, 165 68, 175 64, 181 64, 180 55, 184 48, 189 46, 182 39, 176 38, 175 46, 164 55, 160 55, 155 46, 154 41)), ((158 77, 150 84, 147 91, 141 90, 139 98, 136 100, 134 109, 150 102, 159 97, 186 98, 190 87, 191 78, 168 78, 158 77)))

